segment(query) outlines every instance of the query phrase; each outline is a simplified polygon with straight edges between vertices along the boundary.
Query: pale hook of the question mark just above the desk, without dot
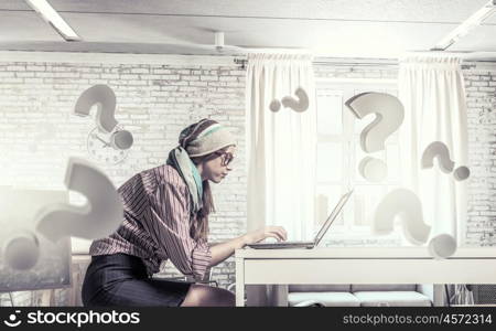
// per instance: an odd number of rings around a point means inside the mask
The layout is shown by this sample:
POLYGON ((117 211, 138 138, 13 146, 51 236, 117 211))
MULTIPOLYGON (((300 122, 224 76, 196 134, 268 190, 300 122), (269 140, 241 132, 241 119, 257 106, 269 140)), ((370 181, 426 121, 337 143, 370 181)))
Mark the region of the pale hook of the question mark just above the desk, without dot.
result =
POLYGON ((396 216, 401 218, 405 237, 410 243, 421 245, 428 241, 431 227, 423 222, 422 203, 416 193, 397 189, 386 194, 374 213, 373 233, 391 233, 396 216))

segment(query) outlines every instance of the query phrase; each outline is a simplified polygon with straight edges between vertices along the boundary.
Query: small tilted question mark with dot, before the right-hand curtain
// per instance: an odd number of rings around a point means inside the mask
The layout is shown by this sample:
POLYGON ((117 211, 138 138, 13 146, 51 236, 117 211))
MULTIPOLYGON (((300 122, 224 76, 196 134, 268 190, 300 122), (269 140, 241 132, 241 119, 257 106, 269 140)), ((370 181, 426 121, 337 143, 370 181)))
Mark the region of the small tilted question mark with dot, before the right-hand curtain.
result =
MULTIPOLYGON (((438 159, 439 168, 444 173, 451 173, 454 162, 450 158, 450 150, 441 141, 431 142, 422 153, 422 169, 434 167, 433 160, 438 159)), ((453 172, 453 177, 457 181, 464 181, 471 175, 471 170, 464 166, 459 167, 453 172)))

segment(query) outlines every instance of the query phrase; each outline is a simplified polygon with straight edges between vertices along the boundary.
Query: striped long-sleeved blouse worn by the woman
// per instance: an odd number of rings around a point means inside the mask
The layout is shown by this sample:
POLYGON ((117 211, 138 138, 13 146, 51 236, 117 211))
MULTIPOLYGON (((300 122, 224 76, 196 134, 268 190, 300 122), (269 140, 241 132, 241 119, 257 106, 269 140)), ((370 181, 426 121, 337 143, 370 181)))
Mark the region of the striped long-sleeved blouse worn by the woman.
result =
POLYGON ((94 241, 89 254, 126 253, 140 257, 151 276, 170 259, 184 275, 202 279, 212 260, 206 241, 190 235, 192 202, 188 189, 171 166, 137 173, 119 189, 123 202, 121 225, 108 237, 94 241))

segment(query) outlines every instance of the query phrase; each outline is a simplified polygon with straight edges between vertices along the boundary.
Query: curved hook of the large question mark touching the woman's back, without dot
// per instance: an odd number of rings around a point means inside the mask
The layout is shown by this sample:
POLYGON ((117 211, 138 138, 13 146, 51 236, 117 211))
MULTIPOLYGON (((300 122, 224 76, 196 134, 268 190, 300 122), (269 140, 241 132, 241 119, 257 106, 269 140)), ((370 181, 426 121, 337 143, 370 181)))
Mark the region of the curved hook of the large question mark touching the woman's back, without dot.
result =
POLYGON ((67 236, 97 239, 116 231, 123 217, 122 201, 101 171, 85 160, 69 158, 65 185, 82 193, 88 203, 83 206, 65 203, 44 206, 35 216, 40 233, 56 242, 67 236))

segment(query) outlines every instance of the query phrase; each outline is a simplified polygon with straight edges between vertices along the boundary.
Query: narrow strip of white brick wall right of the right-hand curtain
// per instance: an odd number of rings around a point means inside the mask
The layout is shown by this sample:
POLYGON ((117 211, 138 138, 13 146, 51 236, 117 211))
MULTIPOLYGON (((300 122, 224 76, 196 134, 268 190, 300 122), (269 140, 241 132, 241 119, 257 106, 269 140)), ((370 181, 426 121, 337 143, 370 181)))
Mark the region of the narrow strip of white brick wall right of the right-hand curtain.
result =
POLYGON ((465 243, 496 245, 496 64, 464 70, 468 107, 468 220, 465 243))

